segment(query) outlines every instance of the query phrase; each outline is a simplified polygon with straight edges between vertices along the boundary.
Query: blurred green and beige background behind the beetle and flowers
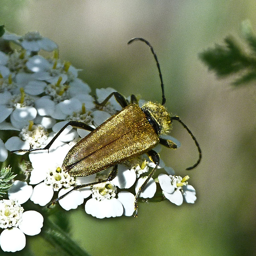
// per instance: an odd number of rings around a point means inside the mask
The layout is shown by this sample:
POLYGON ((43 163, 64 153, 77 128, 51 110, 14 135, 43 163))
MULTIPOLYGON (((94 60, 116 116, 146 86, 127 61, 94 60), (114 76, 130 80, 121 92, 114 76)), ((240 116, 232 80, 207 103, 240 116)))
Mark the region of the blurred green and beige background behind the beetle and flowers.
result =
MULTIPOLYGON (((39 31, 54 40, 60 58, 81 68, 92 90, 113 87, 128 96, 161 100, 154 58, 135 36, 151 42, 160 61, 166 107, 178 114, 202 147, 198 152, 178 123, 172 135, 178 150, 161 157, 176 174, 189 174, 196 188, 194 205, 169 201, 139 205, 138 218, 98 220, 82 209, 69 212, 72 238, 91 255, 256 255, 255 84, 232 88, 218 80, 198 53, 240 36, 249 19, 256 28, 252 0, 78 1, 0 0, 0 23, 16 34, 39 31)), ((49 248, 29 238, 36 255, 49 248)))

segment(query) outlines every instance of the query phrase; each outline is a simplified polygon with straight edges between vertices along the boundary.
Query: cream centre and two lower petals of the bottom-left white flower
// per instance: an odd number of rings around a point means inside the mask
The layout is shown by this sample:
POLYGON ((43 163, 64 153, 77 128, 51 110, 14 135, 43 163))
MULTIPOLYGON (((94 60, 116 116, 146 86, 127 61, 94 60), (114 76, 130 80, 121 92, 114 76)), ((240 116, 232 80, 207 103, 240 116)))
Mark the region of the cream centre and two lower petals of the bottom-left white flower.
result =
POLYGON ((22 250, 26 245, 24 234, 39 234, 43 216, 36 211, 26 211, 15 200, 0 200, 0 246, 5 252, 22 250))

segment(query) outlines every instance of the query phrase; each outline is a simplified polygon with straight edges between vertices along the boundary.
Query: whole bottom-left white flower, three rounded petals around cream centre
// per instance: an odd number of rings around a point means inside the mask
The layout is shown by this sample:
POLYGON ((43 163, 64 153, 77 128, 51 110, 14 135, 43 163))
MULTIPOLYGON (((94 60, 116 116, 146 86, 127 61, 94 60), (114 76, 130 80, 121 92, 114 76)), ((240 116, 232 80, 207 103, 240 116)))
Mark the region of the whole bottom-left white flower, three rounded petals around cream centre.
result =
POLYGON ((32 193, 32 187, 26 182, 16 180, 8 190, 10 199, 0 200, 0 247, 5 252, 22 250, 26 237, 41 232, 43 216, 34 210, 24 210, 21 206, 32 193))

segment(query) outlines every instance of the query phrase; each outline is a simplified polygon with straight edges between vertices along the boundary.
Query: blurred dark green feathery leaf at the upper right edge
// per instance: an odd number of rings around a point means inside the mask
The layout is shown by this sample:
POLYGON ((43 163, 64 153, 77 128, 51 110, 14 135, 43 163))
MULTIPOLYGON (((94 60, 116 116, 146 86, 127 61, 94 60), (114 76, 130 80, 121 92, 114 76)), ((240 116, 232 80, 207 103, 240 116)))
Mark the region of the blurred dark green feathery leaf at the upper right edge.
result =
POLYGON ((256 79, 256 36, 253 34, 248 21, 242 23, 244 46, 228 36, 224 45, 216 44, 214 48, 204 50, 199 54, 200 59, 214 70, 220 78, 237 74, 239 77, 233 82, 241 85, 256 79))

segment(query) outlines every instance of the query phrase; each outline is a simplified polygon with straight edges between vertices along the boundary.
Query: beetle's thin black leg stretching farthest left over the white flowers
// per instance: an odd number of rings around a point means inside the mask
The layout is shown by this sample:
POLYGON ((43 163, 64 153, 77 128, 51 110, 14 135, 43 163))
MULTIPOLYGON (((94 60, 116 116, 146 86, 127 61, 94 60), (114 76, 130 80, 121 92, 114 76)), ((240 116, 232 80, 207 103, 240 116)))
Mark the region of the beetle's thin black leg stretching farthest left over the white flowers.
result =
POLYGON ((52 146, 53 142, 58 138, 58 136, 64 131, 64 129, 71 125, 72 127, 76 127, 76 128, 81 128, 84 130, 88 130, 90 132, 92 132, 95 128, 92 128, 91 126, 89 126, 88 124, 85 124, 83 122, 79 122, 79 121, 69 121, 68 123, 66 123, 56 134, 55 136, 52 138, 52 140, 44 147, 44 148, 32 148, 32 149, 21 149, 21 150, 12 150, 11 153, 13 152, 32 152, 32 151, 36 151, 36 150, 49 150, 50 146, 52 146))

